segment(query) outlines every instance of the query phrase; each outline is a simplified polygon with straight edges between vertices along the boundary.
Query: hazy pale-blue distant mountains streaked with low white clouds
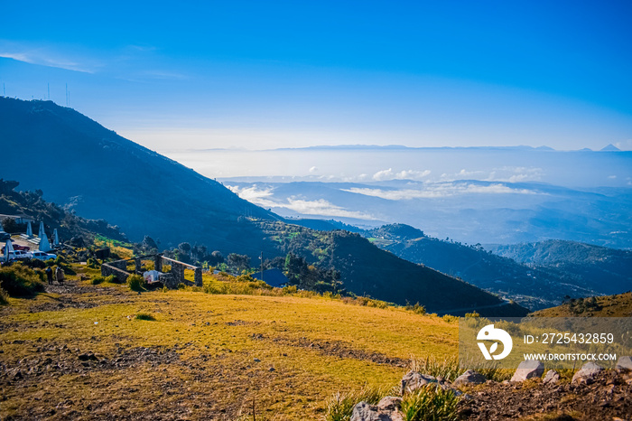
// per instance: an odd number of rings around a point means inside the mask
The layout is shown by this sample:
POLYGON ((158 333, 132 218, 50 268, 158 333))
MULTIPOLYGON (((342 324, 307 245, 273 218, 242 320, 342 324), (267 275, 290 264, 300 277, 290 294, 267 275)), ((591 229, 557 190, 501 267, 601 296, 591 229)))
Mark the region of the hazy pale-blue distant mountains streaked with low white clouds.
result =
POLYGON ((565 239, 632 248, 629 234, 632 189, 629 188, 579 189, 542 182, 405 179, 227 180, 224 184, 241 197, 288 218, 335 219, 363 229, 398 222, 423 228, 435 238, 472 244, 565 239))

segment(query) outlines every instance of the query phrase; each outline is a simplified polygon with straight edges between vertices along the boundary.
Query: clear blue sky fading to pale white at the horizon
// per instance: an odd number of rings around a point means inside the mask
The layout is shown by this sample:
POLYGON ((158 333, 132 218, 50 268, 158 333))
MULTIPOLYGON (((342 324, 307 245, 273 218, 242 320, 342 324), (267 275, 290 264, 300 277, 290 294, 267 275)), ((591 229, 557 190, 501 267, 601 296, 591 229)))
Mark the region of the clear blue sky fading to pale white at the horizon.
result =
MULTIPOLYGON (((0 83, 165 151, 632 149, 632 3, 3 2, 0 83)), ((2 91, 0 91, 0 94, 2 91)))

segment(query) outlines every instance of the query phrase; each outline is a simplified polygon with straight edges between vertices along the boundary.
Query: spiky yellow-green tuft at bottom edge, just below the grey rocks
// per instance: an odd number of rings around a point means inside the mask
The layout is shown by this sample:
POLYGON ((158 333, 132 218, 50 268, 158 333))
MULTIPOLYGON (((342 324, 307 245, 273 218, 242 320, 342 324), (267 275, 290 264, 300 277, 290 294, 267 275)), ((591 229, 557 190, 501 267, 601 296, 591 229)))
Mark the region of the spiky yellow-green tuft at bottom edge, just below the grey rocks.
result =
POLYGON ((457 421, 459 398, 450 389, 429 384, 405 395, 402 413, 406 421, 457 421))

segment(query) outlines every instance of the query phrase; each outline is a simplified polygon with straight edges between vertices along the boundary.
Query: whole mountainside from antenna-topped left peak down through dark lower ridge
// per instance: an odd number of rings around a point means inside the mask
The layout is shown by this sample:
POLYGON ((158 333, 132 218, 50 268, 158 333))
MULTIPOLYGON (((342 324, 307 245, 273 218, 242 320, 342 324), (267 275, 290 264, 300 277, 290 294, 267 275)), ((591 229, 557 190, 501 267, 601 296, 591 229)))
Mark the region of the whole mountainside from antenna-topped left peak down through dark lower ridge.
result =
POLYGON ((302 229, 300 239, 309 241, 299 243, 287 236, 293 226, 274 212, 51 101, 0 98, 0 139, 0 177, 21 182, 23 190, 41 189, 46 200, 84 217, 116 224, 133 241, 150 235, 160 248, 186 241, 254 258, 264 252, 283 259, 294 251, 313 260, 315 252, 322 258, 313 263, 339 271, 344 287, 357 295, 419 302, 435 312, 527 312, 358 235, 302 229))

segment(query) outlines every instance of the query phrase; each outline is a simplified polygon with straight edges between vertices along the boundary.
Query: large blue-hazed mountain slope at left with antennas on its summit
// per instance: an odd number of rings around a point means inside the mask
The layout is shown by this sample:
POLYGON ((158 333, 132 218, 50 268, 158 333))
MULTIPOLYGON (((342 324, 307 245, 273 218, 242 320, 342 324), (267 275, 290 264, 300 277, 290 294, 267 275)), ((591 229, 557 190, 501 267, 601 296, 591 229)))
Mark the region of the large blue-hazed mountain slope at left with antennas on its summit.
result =
POLYGON ((132 240, 151 233, 162 247, 199 242, 251 256, 272 247, 240 216, 274 220, 274 213, 71 108, 0 98, 0 139, 0 177, 108 220, 132 240))

